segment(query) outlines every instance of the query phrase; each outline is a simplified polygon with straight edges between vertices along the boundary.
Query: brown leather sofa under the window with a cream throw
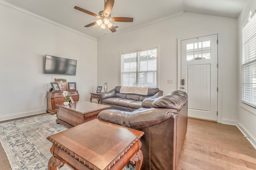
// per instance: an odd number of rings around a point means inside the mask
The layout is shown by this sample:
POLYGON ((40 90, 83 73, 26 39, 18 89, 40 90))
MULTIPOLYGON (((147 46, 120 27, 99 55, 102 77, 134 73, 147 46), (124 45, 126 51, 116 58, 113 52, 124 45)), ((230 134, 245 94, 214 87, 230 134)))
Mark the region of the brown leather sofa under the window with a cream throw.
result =
POLYGON ((162 95, 163 91, 157 87, 116 86, 108 92, 100 93, 99 98, 100 104, 110 105, 112 109, 135 111, 142 107, 144 99, 162 95))

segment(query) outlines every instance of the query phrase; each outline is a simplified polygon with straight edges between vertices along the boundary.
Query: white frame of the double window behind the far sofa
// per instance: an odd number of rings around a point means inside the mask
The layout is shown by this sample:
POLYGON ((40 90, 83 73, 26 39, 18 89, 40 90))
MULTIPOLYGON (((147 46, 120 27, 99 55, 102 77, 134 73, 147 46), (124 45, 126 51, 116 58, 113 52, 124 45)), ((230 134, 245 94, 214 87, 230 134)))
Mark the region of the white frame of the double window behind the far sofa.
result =
MULTIPOLYGON (((156 87, 158 87, 158 80, 159 80, 159 71, 158 71, 158 58, 159 58, 159 47, 158 45, 154 45, 154 46, 151 46, 151 47, 146 47, 146 48, 142 48, 142 49, 135 49, 135 50, 132 50, 132 51, 126 51, 126 52, 120 52, 120 85, 122 86, 122 55, 124 54, 129 54, 129 53, 136 53, 136 86, 138 86, 138 73, 140 71, 138 71, 138 52, 141 52, 141 51, 147 51, 147 50, 152 50, 152 49, 155 49, 156 48, 156 87)), ((152 87, 152 86, 150 86, 152 87)))

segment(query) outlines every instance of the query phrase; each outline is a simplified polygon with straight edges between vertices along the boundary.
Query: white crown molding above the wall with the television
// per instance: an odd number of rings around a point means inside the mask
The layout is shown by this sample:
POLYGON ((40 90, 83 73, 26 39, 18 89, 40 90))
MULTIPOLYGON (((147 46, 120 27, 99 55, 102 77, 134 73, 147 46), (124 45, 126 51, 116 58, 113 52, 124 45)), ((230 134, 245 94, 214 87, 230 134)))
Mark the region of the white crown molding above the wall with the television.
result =
POLYGON ((77 31, 77 30, 74 30, 73 28, 64 26, 64 25, 62 25, 62 24, 60 24, 60 23, 58 23, 58 22, 52 21, 52 20, 50 20, 50 19, 48 19, 48 18, 45 18, 45 17, 43 17, 43 16, 40 16, 40 15, 38 15, 38 14, 35 14, 35 13, 33 13, 33 12, 30 12, 30 11, 28 11, 28 10, 25 10, 25 9, 23 9, 23 8, 20 8, 20 7, 18 7, 18 6, 15 6, 15 5, 13 5, 13 4, 10 4, 9 2, 6 2, 6 1, 4 1, 4 0, 0 0, 0 5, 5 6, 5 7, 7 7, 7 8, 10 8, 10 9, 12 9, 12 10, 16 10, 16 11, 21 12, 21 13, 23 13, 23 14, 26 14, 26 15, 28 15, 28 16, 32 16, 32 17, 34 17, 34 18, 37 18, 38 20, 42 20, 42 21, 47 22, 47 23, 49 23, 49 24, 52 24, 52 25, 54 25, 54 26, 58 26, 59 28, 64 28, 65 30, 74 32, 74 33, 79 34, 79 35, 81 35, 81 36, 84 36, 84 37, 86 37, 86 38, 90 38, 91 40, 97 41, 97 38, 94 38, 94 37, 92 37, 92 36, 89 36, 89 35, 87 35, 87 34, 84 34, 84 33, 82 33, 82 32, 79 32, 79 31, 77 31))

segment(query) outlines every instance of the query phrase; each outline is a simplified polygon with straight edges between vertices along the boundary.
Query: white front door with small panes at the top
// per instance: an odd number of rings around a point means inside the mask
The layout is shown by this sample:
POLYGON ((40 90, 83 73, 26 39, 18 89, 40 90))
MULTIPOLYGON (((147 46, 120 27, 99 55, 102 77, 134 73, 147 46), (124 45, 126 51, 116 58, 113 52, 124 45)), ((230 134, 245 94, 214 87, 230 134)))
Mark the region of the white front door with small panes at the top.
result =
POLYGON ((181 40, 181 90, 188 117, 217 121, 218 35, 181 40))

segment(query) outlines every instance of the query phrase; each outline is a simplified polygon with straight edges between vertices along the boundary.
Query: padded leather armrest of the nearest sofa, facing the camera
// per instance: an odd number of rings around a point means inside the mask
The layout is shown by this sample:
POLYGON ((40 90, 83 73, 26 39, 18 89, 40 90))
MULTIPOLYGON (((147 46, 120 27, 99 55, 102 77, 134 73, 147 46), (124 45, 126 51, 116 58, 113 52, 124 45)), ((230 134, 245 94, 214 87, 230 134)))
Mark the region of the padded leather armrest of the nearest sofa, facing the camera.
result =
POLYGON ((166 121, 176 114, 176 109, 140 108, 133 112, 109 109, 101 111, 98 119, 124 127, 142 129, 166 121))

